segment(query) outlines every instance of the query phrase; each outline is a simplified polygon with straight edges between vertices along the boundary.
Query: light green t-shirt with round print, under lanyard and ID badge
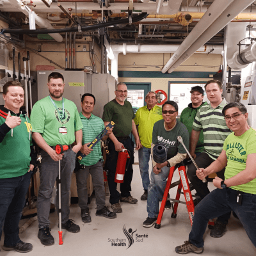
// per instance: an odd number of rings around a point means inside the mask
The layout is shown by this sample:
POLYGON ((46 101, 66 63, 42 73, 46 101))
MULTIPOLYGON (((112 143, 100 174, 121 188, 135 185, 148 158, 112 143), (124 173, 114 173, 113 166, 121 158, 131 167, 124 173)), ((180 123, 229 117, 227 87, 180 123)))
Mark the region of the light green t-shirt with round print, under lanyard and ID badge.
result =
MULTIPOLYGON (((53 100, 62 115, 62 100, 53 100)), ((60 120, 58 110, 49 97, 38 100, 31 111, 32 131, 39 132, 49 146, 70 145, 75 141, 75 132, 83 128, 74 102, 64 99, 65 113, 60 120), (67 134, 61 134, 59 128, 65 126, 67 134)))

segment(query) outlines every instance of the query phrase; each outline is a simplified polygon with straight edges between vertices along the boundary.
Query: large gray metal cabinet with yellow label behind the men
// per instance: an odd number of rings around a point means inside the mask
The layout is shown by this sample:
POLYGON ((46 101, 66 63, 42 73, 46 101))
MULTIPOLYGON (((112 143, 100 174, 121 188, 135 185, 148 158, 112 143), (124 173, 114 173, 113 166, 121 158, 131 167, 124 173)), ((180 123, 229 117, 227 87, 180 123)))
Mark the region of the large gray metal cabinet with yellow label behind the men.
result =
MULTIPOLYGON (((47 81, 51 72, 37 71, 38 100, 49 95, 47 81)), ((82 110, 82 95, 84 93, 92 93, 96 99, 93 115, 102 118, 104 105, 115 99, 115 77, 109 74, 87 74, 83 71, 56 70, 56 72, 60 72, 64 77, 63 97, 72 100, 80 112, 82 110), (72 86, 70 83, 83 83, 83 86, 72 86)))

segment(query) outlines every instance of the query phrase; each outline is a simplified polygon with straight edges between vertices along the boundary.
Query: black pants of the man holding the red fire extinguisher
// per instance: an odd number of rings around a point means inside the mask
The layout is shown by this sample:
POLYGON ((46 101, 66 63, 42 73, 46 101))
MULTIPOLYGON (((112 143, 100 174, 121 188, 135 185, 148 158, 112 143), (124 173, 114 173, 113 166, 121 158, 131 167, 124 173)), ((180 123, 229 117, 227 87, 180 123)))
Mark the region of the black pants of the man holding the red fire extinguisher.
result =
MULTIPOLYGON (((132 182, 132 164, 134 163, 134 143, 132 142, 131 138, 128 137, 126 140, 118 140, 119 142, 123 143, 124 147, 129 150, 130 161, 129 166, 127 166, 127 171, 124 175, 124 183, 120 184, 120 191, 122 197, 131 196, 131 182, 132 182)), ((115 182, 115 174, 116 174, 116 163, 118 159, 118 152, 115 150, 115 145, 113 141, 109 140, 108 144, 109 154, 106 158, 106 169, 108 170, 108 186, 110 192, 109 203, 116 204, 119 202, 120 193, 116 190, 117 183, 115 182)))

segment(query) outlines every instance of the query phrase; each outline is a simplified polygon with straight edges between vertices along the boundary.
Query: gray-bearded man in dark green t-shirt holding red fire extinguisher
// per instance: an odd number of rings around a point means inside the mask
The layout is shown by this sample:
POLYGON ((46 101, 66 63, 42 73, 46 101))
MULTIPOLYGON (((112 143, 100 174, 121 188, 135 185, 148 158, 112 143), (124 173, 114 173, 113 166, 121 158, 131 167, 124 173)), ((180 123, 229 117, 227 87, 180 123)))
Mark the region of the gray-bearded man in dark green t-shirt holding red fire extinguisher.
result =
POLYGON ((109 134, 108 150, 109 154, 106 159, 106 168, 108 170, 108 186, 110 192, 109 202, 113 212, 122 212, 120 202, 127 202, 129 204, 136 204, 138 200, 131 196, 131 182, 132 182, 132 164, 134 163, 134 143, 129 135, 133 134, 136 142, 136 150, 141 148, 140 138, 134 123, 134 112, 131 103, 127 100, 127 86, 125 83, 116 84, 115 99, 111 100, 104 106, 103 121, 104 125, 108 125, 113 121, 115 127, 113 133, 109 134), (129 150, 130 161, 127 166, 127 171, 124 175, 124 183, 120 184, 121 194, 116 190, 115 173, 116 163, 118 159, 118 152, 122 148, 129 150))

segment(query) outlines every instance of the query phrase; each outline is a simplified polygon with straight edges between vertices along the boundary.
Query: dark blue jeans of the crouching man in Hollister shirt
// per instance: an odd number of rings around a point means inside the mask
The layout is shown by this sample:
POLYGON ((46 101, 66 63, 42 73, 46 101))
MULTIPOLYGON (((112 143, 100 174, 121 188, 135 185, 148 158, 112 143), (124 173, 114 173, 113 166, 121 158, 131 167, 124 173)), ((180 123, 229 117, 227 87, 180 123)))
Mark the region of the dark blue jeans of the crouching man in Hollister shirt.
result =
MULTIPOLYGON (((189 241, 196 247, 204 246, 204 232, 209 219, 234 211, 246 234, 256 247, 256 195, 243 193, 242 204, 237 204, 237 191, 231 188, 214 189, 195 207, 189 241)), ((237 242, 239 237, 237 237, 237 242)))

